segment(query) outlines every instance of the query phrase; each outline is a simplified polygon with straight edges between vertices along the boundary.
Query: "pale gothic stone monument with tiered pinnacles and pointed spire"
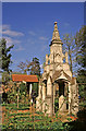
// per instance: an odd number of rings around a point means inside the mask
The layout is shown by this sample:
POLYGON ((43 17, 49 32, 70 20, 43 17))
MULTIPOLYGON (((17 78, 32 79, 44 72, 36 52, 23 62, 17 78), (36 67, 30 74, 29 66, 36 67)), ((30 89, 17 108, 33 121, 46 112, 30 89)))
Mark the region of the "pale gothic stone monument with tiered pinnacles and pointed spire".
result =
POLYGON ((76 79, 72 76, 69 66, 67 52, 62 52, 62 41, 59 36, 57 22, 52 40, 50 43, 50 55, 46 55, 46 66, 42 78, 39 80, 39 93, 36 100, 36 109, 39 111, 54 114, 56 94, 59 96, 59 110, 61 112, 76 114, 78 111, 78 87, 76 79), (65 59, 65 62, 63 62, 65 59), (66 100, 69 102, 66 104, 66 100))

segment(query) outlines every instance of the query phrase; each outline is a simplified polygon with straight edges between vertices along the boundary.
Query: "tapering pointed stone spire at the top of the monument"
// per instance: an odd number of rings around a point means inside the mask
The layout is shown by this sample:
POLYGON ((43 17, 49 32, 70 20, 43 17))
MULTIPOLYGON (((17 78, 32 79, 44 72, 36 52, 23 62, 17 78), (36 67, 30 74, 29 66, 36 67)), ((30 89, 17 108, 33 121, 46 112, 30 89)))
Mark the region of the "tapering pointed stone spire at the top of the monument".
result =
POLYGON ((52 41, 61 41, 57 22, 54 22, 54 29, 53 29, 53 35, 52 35, 52 41))

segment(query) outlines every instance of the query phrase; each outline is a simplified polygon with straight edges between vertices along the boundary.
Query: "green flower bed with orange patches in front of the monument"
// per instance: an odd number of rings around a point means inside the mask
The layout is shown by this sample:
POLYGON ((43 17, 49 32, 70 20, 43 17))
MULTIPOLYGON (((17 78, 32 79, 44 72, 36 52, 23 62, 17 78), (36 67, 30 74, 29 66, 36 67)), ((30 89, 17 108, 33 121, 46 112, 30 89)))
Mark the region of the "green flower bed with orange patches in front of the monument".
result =
MULTIPOLYGON (((22 107, 21 110, 15 107, 16 105, 8 105, 5 106, 5 116, 2 124, 2 129, 11 129, 11 130, 23 130, 23 129, 36 129, 36 130, 60 130, 60 131, 69 131, 70 126, 62 122, 62 116, 56 115, 54 117, 45 116, 44 112, 32 110, 32 112, 26 108, 22 107)), ((74 118, 71 116, 66 117, 73 120, 74 118), (73 118, 73 119, 72 119, 73 118)), ((65 119, 66 119, 65 118, 65 119)), ((70 121, 70 119, 67 121, 70 121)))

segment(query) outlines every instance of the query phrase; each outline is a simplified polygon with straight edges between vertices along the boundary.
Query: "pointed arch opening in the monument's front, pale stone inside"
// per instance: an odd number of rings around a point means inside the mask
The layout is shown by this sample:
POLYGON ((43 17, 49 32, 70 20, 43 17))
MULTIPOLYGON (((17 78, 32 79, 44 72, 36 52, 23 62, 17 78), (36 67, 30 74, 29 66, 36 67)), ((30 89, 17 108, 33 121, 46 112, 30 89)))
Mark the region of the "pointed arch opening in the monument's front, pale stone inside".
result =
POLYGON ((54 81, 54 112, 69 110, 69 82, 64 79, 54 81))

